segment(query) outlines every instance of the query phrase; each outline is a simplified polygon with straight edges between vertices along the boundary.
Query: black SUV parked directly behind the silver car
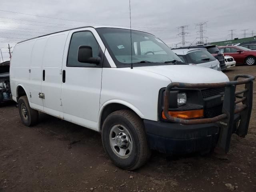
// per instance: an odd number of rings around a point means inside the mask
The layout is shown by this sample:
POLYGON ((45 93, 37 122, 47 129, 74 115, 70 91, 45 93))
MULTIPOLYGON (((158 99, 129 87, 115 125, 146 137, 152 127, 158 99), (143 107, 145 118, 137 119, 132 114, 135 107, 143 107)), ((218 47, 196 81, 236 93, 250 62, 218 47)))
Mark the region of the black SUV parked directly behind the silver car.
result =
POLYGON ((207 51, 212 54, 219 62, 220 62, 220 70, 225 70, 226 64, 225 64, 225 58, 222 52, 216 47, 216 45, 211 44, 203 44, 203 45, 193 45, 193 46, 186 46, 186 47, 180 47, 180 48, 172 48, 172 50, 178 50, 178 49, 190 49, 190 48, 206 48, 207 51))

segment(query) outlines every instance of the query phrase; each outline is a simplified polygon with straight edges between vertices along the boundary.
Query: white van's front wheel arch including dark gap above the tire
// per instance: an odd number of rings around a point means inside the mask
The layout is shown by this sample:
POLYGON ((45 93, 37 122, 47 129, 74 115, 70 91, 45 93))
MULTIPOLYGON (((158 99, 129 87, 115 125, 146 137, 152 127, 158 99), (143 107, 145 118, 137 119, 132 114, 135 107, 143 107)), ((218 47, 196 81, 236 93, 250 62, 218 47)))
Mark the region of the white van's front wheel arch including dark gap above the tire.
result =
POLYGON ((136 108, 135 106, 133 106, 132 104, 125 102, 123 100, 110 100, 108 102, 105 102, 102 107, 100 108, 100 112, 99 112, 99 118, 98 118, 98 130, 99 132, 101 132, 102 130, 102 124, 104 122, 104 120, 106 119, 106 117, 117 110, 121 110, 121 109, 129 109, 132 110, 134 113, 136 113, 140 118, 144 118, 144 115, 142 114, 142 112, 136 108))

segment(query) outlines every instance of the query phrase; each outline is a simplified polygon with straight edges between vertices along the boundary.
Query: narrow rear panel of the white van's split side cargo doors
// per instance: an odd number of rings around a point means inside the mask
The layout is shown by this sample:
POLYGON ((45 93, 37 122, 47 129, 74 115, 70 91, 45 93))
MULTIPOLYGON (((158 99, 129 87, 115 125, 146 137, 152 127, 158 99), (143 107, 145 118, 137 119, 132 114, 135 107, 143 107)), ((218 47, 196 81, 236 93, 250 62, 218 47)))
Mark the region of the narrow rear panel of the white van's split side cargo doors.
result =
POLYGON ((41 90, 42 84, 42 60, 44 55, 44 48, 47 42, 47 37, 42 37, 37 39, 34 43, 32 55, 31 55, 31 65, 30 65, 30 106, 34 109, 44 111, 44 104, 42 98, 39 98, 39 92, 41 90))

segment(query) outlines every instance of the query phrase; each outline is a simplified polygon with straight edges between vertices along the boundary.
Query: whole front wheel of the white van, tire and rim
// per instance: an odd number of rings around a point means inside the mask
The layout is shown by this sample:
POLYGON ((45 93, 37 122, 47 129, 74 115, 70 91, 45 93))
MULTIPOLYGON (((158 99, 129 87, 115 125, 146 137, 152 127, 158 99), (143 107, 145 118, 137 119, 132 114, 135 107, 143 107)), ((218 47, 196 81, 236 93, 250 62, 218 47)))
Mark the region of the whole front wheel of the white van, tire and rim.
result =
POLYGON ((106 118, 102 143, 112 162, 126 170, 141 167, 150 157, 143 121, 130 110, 118 110, 106 118))

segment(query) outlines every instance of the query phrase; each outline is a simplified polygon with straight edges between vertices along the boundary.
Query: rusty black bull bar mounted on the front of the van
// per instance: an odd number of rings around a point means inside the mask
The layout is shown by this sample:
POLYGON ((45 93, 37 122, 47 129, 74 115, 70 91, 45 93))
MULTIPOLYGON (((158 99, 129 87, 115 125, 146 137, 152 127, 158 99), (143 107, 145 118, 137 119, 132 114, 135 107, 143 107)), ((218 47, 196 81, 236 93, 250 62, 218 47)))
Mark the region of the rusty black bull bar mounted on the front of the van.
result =
POLYGON ((250 122, 250 114, 252 111, 252 96, 253 96, 253 80, 254 76, 247 74, 240 74, 235 76, 233 81, 220 82, 220 83, 181 83, 172 82, 168 84, 164 93, 164 115, 167 120, 174 123, 184 125, 194 124, 207 124, 207 123, 219 123, 220 124, 220 136, 217 146, 228 152, 230 147, 230 140, 232 132, 234 131, 234 116, 240 114, 240 123, 235 132, 240 137, 245 137, 248 132, 248 126, 250 122), (243 78, 238 80, 238 78, 243 78), (236 91, 236 85, 244 84, 243 90, 236 91), (169 110, 169 96, 172 88, 220 88, 225 87, 224 100, 222 106, 222 114, 213 118, 201 118, 201 119, 181 119, 170 116, 169 110), (241 95, 243 94, 243 95, 241 95), (237 99, 236 99, 237 98, 237 99), (242 103, 237 105, 238 103, 242 103))

